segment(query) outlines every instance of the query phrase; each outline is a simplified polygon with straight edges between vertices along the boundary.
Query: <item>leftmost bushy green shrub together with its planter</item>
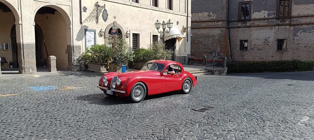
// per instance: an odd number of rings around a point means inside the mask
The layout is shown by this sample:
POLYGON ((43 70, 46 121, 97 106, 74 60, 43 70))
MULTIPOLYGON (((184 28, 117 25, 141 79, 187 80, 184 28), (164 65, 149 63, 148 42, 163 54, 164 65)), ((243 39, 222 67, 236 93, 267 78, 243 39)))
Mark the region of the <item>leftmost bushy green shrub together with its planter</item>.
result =
POLYGON ((107 72, 108 61, 111 57, 111 48, 106 44, 96 44, 82 53, 79 60, 82 65, 87 66, 87 70, 94 72, 107 72))

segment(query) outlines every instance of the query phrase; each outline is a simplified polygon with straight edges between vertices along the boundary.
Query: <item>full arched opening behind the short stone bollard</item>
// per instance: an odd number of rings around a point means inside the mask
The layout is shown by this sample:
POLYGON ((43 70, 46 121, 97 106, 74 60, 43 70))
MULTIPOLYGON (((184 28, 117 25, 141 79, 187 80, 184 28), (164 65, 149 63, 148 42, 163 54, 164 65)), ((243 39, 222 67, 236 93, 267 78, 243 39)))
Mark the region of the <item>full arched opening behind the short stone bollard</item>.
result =
POLYGON ((67 24, 70 22, 67 20, 68 17, 64 16, 68 16, 67 13, 56 5, 45 5, 37 9, 34 20, 36 66, 43 66, 45 59, 55 56, 57 69, 68 69, 68 59, 72 60, 72 57, 68 58, 66 52, 68 45, 71 44, 71 40, 67 40, 69 35, 67 24))

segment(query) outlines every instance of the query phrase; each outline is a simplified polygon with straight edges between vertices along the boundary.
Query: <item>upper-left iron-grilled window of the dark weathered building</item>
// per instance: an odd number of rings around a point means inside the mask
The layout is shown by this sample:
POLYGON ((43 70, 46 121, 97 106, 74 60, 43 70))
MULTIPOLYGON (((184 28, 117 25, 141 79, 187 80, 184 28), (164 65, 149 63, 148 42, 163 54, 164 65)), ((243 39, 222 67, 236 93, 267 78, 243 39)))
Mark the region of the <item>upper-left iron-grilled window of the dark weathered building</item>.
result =
POLYGON ((251 4, 252 4, 252 1, 239 2, 239 10, 238 10, 239 20, 251 19, 251 4))

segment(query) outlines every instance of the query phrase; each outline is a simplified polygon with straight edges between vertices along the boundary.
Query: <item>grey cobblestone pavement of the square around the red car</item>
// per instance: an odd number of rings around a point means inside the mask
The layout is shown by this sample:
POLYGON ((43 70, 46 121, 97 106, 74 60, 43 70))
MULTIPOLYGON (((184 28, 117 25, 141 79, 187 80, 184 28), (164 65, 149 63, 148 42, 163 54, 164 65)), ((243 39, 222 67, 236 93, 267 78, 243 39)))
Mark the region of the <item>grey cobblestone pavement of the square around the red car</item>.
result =
POLYGON ((190 94, 137 104, 103 94, 96 88, 101 75, 3 74, 0 139, 314 140, 313 72, 199 76, 190 94), (214 109, 192 110, 203 106, 214 109))

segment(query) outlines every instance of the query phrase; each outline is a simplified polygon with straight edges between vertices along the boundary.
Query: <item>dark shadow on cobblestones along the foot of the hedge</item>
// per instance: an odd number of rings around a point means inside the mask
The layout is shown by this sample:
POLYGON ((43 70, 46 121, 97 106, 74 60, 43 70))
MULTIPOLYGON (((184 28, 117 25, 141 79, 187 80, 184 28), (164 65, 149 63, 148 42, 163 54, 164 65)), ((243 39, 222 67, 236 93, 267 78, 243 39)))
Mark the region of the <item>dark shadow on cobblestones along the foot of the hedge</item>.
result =
POLYGON ((259 77, 265 79, 290 79, 301 81, 314 81, 314 72, 285 72, 285 73, 237 73, 227 74, 227 76, 259 77))

